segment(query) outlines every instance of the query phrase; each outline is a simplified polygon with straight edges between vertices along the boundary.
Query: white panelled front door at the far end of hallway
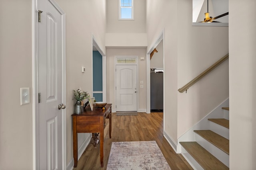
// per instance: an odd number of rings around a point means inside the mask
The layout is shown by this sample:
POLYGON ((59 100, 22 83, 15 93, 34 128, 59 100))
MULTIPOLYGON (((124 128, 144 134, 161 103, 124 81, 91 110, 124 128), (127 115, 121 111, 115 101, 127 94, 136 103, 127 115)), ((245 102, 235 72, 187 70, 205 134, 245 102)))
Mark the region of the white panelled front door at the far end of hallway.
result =
POLYGON ((137 111, 136 65, 116 65, 116 111, 137 111))

